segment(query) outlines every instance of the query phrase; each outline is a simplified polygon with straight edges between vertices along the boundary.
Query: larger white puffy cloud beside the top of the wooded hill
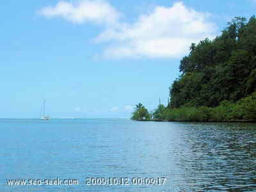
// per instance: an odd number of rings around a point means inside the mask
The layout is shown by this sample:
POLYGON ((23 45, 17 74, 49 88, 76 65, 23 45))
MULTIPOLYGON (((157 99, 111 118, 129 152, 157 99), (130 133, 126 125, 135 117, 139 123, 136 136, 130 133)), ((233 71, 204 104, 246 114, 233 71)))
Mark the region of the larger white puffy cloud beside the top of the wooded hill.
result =
POLYGON ((172 7, 157 6, 148 15, 141 15, 134 24, 106 29, 95 41, 109 41, 106 57, 181 57, 191 43, 214 38, 216 26, 207 22, 209 13, 186 8, 182 3, 172 7))

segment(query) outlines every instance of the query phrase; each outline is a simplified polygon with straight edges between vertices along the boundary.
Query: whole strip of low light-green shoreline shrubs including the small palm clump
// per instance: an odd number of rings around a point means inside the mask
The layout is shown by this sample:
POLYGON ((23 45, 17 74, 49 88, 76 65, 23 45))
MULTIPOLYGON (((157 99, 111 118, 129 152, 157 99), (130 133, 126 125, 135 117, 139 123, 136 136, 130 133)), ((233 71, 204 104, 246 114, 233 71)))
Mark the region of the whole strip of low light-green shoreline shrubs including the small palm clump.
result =
POLYGON ((152 114, 143 105, 135 109, 131 119, 137 121, 256 121, 256 91, 235 103, 221 101, 217 107, 168 108, 158 105, 152 114))

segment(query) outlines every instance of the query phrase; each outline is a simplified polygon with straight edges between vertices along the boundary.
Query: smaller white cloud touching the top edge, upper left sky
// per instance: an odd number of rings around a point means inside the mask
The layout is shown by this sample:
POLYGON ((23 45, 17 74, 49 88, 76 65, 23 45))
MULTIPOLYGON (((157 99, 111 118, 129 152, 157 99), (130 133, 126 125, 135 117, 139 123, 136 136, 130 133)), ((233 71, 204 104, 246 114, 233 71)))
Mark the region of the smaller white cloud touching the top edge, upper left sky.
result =
POLYGON ((116 24, 120 17, 120 13, 104 0, 72 2, 59 1, 55 7, 47 6, 38 13, 47 18, 61 16, 74 23, 93 22, 104 26, 116 24))

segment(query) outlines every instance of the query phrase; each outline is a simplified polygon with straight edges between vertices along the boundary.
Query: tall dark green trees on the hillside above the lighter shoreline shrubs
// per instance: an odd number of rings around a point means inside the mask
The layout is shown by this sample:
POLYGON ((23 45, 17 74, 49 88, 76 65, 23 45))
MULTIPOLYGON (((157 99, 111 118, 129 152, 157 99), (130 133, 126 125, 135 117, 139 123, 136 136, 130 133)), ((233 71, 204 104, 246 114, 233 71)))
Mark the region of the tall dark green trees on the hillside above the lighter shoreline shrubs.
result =
MULTIPOLYGON (((189 50, 180 61, 180 77, 170 87, 172 109, 214 108, 225 100, 236 103, 256 90, 254 16, 248 23, 244 17, 235 17, 220 36, 191 43, 189 50)), ((216 110, 222 111, 223 106, 216 110)))

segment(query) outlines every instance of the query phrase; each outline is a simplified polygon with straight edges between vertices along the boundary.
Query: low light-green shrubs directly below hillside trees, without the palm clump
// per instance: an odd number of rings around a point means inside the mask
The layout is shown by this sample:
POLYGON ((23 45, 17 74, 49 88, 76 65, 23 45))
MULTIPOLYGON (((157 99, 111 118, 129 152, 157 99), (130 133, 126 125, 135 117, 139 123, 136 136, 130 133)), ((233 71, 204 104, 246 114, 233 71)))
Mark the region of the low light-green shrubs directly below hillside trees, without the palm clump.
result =
POLYGON ((256 92, 233 103, 224 100, 218 107, 170 109, 168 121, 256 121, 256 92))

